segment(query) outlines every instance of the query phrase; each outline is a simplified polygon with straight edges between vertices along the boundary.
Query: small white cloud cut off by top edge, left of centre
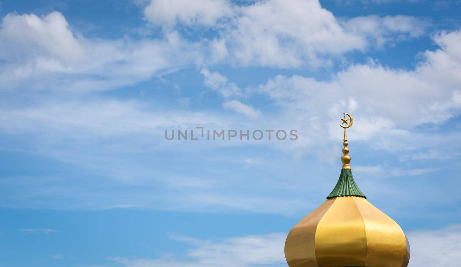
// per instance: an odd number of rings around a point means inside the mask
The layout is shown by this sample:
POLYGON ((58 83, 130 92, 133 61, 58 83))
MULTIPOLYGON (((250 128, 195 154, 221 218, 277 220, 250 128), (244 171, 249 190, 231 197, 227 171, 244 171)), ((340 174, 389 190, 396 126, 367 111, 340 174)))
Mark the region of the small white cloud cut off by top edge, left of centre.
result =
POLYGON ((166 28, 176 23, 213 26, 231 14, 227 0, 151 0, 144 9, 148 21, 166 28))

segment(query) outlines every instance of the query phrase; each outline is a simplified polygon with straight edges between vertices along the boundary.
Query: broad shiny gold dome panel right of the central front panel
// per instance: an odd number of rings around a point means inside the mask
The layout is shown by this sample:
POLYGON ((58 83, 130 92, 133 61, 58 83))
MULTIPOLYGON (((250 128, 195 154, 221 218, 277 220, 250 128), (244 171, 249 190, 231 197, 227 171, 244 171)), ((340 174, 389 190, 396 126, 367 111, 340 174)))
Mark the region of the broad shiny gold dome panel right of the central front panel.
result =
POLYGON ((402 228, 363 197, 353 197, 366 232, 366 261, 363 266, 402 267, 407 240, 402 228))

